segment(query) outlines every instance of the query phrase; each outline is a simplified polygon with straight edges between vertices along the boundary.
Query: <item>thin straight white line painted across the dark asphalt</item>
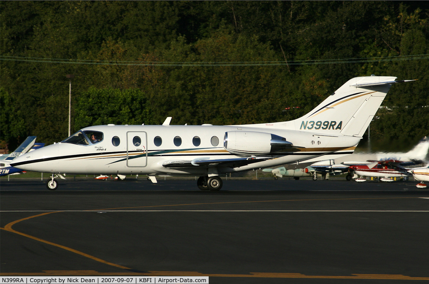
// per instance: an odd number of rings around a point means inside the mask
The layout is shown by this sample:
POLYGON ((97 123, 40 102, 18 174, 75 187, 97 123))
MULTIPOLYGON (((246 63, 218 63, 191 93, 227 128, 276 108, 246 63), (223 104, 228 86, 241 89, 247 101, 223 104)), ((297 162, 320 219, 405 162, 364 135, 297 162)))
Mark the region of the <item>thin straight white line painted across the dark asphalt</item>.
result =
POLYGON ((2 210, 0 212, 429 212, 429 210, 2 210))

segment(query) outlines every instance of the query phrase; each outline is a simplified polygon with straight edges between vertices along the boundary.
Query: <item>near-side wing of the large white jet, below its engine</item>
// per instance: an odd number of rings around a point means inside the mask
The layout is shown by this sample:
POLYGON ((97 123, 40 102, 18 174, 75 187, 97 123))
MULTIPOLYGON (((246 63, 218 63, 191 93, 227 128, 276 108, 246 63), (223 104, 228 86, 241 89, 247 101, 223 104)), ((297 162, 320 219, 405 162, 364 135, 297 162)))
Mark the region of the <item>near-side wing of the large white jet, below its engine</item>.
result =
POLYGON ((163 167, 241 167, 247 164, 253 164, 261 161, 266 161, 268 157, 248 157, 248 158, 226 158, 226 159, 210 159, 210 158, 196 158, 192 161, 166 161, 162 165, 163 167))

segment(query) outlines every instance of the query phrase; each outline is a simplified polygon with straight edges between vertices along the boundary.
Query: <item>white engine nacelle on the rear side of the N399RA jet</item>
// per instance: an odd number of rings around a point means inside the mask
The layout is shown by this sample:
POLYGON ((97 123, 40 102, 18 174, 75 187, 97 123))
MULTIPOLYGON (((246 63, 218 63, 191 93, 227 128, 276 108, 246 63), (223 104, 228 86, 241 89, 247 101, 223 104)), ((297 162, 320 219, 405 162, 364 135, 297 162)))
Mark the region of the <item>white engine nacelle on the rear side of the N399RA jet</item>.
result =
POLYGON ((236 155, 266 155, 291 146, 286 138, 266 132, 228 131, 224 138, 225 149, 236 155))

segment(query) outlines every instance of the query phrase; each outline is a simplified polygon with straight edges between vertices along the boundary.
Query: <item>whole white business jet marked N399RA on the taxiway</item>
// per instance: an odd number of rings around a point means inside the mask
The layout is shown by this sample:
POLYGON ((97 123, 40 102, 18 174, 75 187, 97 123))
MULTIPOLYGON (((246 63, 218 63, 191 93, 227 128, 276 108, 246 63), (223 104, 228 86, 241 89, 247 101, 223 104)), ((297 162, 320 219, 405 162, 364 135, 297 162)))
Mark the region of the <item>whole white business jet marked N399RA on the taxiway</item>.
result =
POLYGON ((396 77, 350 79, 305 116, 287 122, 201 126, 104 125, 21 155, 11 164, 62 174, 147 174, 200 176, 201 190, 221 189, 219 174, 353 153, 396 77), (324 156, 327 157, 324 157, 324 156))

